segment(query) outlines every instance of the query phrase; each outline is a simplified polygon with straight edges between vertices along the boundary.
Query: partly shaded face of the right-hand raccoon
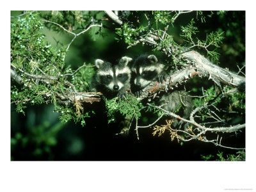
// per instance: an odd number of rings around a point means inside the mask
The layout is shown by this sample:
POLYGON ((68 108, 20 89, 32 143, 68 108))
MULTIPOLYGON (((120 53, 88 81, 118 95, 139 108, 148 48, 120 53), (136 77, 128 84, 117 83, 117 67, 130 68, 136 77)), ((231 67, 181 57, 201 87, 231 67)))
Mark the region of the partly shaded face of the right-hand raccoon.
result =
POLYGON ((132 80, 137 88, 143 89, 162 72, 163 65, 157 63, 154 54, 139 56, 132 65, 132 80))

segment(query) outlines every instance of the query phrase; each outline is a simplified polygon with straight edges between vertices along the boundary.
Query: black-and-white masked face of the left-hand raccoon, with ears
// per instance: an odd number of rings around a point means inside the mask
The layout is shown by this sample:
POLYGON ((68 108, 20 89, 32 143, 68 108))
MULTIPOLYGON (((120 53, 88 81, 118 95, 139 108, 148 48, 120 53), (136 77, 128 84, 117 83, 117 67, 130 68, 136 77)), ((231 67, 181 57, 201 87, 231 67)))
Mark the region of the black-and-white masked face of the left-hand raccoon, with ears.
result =
POLYGON ((130 81, 131 70, 127 67, 129 61, 131 61, 131 58, 123 57, 118 65, 112 65, 109 62, 96 60, 97 81, 105 86, 107 90, 118 92, 130 81))

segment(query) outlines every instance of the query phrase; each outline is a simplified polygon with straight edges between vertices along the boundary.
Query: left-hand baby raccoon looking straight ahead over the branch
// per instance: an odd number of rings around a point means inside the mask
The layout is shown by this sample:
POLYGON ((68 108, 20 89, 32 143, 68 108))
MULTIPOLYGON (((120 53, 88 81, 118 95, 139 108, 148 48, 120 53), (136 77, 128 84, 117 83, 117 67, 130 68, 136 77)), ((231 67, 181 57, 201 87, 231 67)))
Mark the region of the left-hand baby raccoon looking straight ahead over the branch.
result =
POLYGON ((127 66, 132 58, 122 57, 117 65, 108 61, 96 60, 97 72, 92 77, 91 92, 101 92, 108 99, 126 97, 126 91, 130 88, 131 70, 127 66))

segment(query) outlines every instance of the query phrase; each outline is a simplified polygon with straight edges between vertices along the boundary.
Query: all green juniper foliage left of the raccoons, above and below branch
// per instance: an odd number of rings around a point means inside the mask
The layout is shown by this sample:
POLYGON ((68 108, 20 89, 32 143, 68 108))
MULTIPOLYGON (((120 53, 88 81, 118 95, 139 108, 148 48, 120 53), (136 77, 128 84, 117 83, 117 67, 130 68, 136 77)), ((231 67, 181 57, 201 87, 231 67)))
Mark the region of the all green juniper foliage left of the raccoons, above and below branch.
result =
MULTIPOLYGON (((56 17, 61 22, 68 15, 77 18, 77 14, 61 12, 60 14, 56 13, 56 17)), ((53 102, 56 111, 61 114, 61 122, 74 120, 74 122, 81 122, 82 125, 85 125, 84 118, 89 117, 89 111, 78 114, 74 104, 63 106, 56 101, 55 94, 63 95, 72 91, 72 88, 65 81, 70 77, 68 74, 72 74, 74 70, 70 66, 65 67, 64 59, 67 47, 56 50, 45 40, 45 35, 41 32, 43 24, 40 21, 40 15, 42 16, 42 12, 30 12, 22 18, 18 17, 11 20, 11 63, 31 76, 56 76, 57 78, 38 81, 17 71, 17 74, 22 77, 22 84, 11 86, 11 103, 17 106, 17 112, 25 115, 24 109, 28 104, 33 106, 53 102)), ((54 17, 53 15, 51 16, 54 17)), ((46 15, 44 16, 46 17, 46 15)), ((74 83, 77 91, 88 91, 88 82, 93 72, 92 67, 83 67, 72 75, 71 83, 74 83)), ((81 111, 81 109, 79 110, 81 111)))

